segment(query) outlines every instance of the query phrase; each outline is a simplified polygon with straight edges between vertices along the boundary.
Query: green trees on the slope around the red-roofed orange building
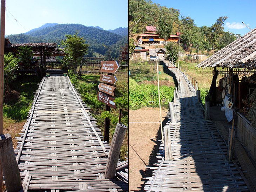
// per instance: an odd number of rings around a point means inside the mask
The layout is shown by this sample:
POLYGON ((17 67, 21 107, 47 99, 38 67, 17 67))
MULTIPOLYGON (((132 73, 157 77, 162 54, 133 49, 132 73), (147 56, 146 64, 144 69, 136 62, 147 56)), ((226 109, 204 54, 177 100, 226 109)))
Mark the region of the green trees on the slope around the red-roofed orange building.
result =
POLYGON ((156 26, 160 37, 168 39, 169 35, 176 35, 180 25, 181 45, 185 50, 194 49, 195 52, 220 50, 240 37, 240 34, 224 31, 227 18, 220 15, 212 26, 197 27, 189 15, 180 17, 176 7, 160 6, 150 0, 129 0, 129 36, 145 32, 146 26, 156 26))

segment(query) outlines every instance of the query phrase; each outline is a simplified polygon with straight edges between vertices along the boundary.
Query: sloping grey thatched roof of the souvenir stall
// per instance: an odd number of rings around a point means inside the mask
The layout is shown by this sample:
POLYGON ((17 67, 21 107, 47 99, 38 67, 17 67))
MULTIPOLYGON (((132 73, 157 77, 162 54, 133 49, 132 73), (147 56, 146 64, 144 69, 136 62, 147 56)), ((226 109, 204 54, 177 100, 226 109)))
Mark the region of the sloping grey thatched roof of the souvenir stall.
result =
POLYGON ((256 28, 219 50, 196 67, 256 68, 256 28))

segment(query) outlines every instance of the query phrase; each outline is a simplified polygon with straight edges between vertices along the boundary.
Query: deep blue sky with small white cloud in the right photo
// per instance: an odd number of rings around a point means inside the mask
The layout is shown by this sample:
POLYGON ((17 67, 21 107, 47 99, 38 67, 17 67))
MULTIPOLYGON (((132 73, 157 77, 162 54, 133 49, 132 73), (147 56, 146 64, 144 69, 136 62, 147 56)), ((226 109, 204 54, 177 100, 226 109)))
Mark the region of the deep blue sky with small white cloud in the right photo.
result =
POLYGON ((197 27, 212 26, 219 17, 228 16, 224 30, 244 35, 256 28, 256 0, 152 0, 167 8, 180 9, 180 15, 190 16, 197 27))

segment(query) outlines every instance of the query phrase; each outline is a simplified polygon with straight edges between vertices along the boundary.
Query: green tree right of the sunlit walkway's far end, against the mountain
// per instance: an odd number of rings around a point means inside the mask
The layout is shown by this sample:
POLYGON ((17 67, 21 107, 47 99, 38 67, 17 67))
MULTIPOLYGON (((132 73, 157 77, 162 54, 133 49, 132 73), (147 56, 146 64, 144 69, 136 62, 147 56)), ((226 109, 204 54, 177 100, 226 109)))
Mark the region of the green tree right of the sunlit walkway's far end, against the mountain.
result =
POLYGON ((72 69, 72 71, 76 74, 76 70, 78 68, 78 63, 80 63, 80 69, 79 69, 79 75, 82 73, 82 57, 86 54, 87 49, 89 48, 89 45, 85 43, 85 40, 83 40, 83 37, 78 36, 78 32, 76 32, 75 35, 66 35, 67 40, 65 41, 65 49, 67 54, 68 60, 73 60, 74 62, 71 62, 72 65, 69 66, 69 69, 72 69))

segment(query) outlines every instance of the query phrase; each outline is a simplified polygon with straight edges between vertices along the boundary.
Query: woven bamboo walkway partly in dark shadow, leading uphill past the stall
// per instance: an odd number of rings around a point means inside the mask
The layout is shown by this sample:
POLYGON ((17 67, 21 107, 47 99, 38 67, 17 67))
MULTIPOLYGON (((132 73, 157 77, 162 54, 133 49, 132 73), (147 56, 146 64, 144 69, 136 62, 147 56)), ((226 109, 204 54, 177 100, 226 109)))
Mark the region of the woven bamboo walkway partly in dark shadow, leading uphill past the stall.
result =
POLYGON ((164 160, 161 145, 158 163, 151 167, 153 177, 147 178, 144 190, 249 191, 237 163, 227 160, 227 146, 214 123, 205 120, 195 89, 182 73, 179 76, 181 92, 174 104, 175 123, 166 125, 171 130, 173 160, 164 160))

